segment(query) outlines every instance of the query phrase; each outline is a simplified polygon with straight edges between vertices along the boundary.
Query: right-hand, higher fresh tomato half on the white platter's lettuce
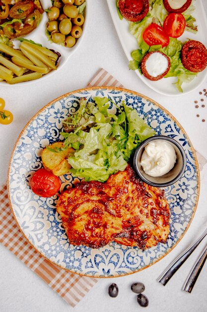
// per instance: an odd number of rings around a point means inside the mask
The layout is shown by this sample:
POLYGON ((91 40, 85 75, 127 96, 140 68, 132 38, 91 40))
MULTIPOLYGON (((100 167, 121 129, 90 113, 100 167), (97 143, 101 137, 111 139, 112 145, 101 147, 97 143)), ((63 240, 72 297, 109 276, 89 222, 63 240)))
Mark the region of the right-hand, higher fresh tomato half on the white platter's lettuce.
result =
POLYGON ((180 37, 184 33, 185 26, 186 20, 181 13, 170 13, 163 23, 164 31, 172 38, 180 37))

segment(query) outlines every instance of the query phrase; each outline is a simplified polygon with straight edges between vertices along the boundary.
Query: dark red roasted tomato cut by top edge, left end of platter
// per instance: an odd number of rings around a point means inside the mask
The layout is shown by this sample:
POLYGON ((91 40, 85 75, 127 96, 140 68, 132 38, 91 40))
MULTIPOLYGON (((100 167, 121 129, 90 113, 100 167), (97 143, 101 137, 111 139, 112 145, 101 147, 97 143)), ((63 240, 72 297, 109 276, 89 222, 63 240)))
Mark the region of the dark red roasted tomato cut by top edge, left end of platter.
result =
POLYGON ((149 0, 119 0, 118 6, 124 18, 136 22, 148 13, 149 0))

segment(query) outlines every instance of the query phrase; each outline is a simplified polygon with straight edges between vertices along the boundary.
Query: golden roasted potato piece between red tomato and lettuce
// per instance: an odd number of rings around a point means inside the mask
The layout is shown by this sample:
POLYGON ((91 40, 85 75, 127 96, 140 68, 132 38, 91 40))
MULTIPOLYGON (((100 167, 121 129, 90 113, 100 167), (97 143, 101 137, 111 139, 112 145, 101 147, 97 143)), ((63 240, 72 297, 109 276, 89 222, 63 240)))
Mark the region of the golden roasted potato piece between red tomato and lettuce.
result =
MULTIPOLYGON (((61 149, 64 147, 63 142, 55 142, 48 146, 52 150, 61 149)), ((42 152, 42 163, 45 169, 53 172, 55 175, 63 175, 69 173, 71 165, 69 164, 67 158, 71 153, 73 153, 72 148, 68 148, 65 151, 53 152, 45 148, 42 152)))

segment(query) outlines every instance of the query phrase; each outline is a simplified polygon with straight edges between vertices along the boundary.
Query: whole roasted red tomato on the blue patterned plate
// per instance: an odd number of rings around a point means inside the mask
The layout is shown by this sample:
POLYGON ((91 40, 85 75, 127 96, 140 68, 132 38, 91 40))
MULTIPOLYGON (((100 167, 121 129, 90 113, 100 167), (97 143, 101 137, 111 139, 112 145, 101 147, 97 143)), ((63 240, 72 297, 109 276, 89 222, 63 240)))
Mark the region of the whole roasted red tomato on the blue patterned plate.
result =
POLYGON ((41 168, 33 174, 30 187, 32 191, 39 196, 51 197, 59 191, 61 180, 57 175, 41 168))

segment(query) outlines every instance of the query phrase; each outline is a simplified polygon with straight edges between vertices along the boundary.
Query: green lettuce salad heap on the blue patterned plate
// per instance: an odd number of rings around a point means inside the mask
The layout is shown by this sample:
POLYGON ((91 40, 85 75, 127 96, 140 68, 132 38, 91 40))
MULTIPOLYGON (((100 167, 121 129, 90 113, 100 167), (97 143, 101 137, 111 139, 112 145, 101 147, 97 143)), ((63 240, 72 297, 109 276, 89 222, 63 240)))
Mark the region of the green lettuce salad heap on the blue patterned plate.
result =
POLYGON ((155 132, 124 101, 122 108, 113 103, 113 112, 108 98, 97 96, 94 101, 80 100, 61 135, 64 147, 75 150, 68 159, 71 172, 86 181, 105 182, 111 174, 123 171, 138 145, 155 132))

